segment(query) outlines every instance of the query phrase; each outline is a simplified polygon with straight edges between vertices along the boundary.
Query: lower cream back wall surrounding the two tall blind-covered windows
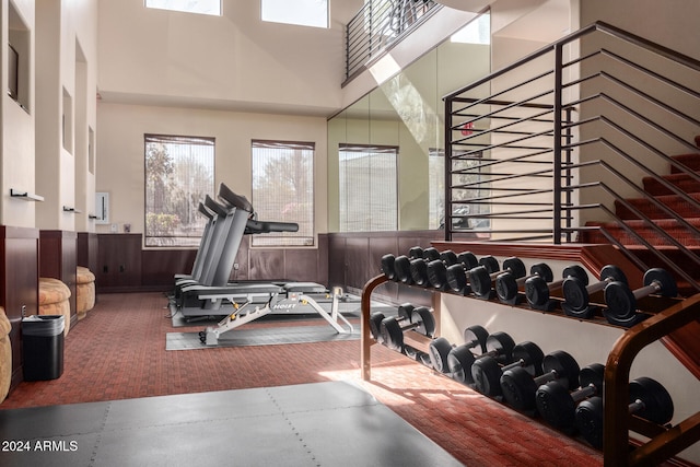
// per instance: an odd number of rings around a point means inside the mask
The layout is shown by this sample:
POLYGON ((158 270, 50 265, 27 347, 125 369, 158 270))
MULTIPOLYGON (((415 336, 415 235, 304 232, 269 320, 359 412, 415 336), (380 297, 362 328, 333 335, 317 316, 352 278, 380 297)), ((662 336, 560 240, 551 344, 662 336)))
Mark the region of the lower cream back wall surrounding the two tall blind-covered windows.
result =
MULTIPOLYGON (((97 125, 100 138, 98 191, 110 194, 110 223, 124 231, 143 232, 144 217, 144 133, 213 137, 215 147, 215 183, 250 199, 252 139, 279 139, 316 143, 314 165, 315 223, 317 232, 326 232, 326 119, 137 106, 100 103, 97 125)), ((213 194, 212 194, 213 195, 213 194)), ((97 225, 97 232, 109 232, 110 225, 97 225)))

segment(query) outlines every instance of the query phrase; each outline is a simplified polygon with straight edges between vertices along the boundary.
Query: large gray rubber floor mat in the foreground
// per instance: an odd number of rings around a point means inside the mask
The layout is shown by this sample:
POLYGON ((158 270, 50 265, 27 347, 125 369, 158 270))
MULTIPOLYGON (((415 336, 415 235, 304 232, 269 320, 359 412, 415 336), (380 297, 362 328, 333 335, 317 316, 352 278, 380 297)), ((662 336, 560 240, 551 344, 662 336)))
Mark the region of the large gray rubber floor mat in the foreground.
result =
POLYGON ((0 410, 4 467, 460 464, 345 382, 0 410))

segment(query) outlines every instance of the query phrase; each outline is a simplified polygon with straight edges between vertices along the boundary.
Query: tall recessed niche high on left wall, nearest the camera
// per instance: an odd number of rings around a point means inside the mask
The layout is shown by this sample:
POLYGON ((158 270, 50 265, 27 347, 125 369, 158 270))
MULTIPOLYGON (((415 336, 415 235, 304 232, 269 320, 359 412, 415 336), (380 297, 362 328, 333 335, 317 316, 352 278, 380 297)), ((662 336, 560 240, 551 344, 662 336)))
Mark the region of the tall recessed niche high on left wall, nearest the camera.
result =
POLYGON ((22 108, 30 112, 30 63, 31 31, 20 15, 12 1, 8 8, 8 44, 7 63, 8 82, 7 92, 22 108))

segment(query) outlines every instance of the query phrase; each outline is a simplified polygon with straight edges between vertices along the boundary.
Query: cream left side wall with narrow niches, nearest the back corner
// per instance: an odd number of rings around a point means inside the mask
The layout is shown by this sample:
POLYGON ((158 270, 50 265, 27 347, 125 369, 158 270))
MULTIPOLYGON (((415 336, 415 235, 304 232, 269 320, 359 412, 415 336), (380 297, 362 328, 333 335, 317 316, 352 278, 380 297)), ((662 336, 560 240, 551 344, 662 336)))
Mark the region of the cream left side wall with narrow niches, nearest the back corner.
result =
POLYGON ((37 0, 36 9, 35 177, 46 200, 37 205, 35 225, 92 231, 94 174, 88 173, 86 157, 88 128, 96 127, 97 1, 37 0))

